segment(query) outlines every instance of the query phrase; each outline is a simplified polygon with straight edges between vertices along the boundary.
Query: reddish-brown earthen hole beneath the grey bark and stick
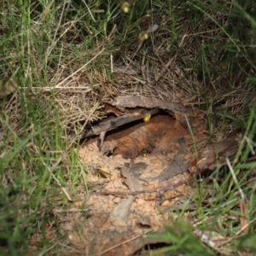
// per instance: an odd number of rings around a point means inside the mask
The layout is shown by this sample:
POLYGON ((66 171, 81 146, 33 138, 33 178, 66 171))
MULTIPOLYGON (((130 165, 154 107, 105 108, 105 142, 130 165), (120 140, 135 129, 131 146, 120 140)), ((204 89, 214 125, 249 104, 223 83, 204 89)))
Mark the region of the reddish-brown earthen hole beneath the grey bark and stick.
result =
POLYGON ((172 118, 161 112, 147 122, 137 120, 108 131, 102 153, 121 154, 125 159, 135 159, 140 154, 169 154, 178 148, 178 140, 187 131, 172 118))

